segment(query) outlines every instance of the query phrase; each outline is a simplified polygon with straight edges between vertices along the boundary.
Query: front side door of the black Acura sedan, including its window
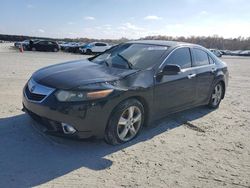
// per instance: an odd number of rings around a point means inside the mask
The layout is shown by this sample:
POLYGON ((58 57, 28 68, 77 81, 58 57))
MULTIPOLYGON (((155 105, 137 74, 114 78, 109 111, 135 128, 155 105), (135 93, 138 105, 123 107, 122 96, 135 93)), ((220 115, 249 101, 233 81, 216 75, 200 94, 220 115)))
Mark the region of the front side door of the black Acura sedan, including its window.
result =
POLYGON ((155 76, 154 105, 157 117, 186 108, 196 99, 196 75, 191 64, 191 53, 187 47, 174 50, 159 68, 176 64, 181 72, 176 75, 155 76))

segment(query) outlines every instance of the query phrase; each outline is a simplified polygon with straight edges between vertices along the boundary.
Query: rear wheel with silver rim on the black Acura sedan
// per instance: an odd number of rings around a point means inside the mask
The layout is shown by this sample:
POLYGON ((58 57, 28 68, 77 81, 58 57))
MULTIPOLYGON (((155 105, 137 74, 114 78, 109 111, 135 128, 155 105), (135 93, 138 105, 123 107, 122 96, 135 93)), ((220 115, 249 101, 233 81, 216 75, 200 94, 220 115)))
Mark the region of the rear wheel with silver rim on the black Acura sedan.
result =
POLYGON ((208 107, 213 108, 213 109, 218 108, 222 100, 222 96, 224 92, 225 91, 224 91, 224 87, 222 83, 221 82, 217 83, 214 86, 213 91, 211 93, 208 107))

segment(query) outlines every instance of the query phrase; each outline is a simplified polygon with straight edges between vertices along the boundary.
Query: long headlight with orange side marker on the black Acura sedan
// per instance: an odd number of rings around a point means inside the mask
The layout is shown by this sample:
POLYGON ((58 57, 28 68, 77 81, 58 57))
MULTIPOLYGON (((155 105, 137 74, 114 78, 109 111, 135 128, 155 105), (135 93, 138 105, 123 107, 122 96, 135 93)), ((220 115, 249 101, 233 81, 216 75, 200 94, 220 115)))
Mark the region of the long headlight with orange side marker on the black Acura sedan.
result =
POLYGON ((75 101, 86 101, 94 100, 107 97, 110 93, 113 92, 113 89, 99 90, 99 91, 58 91, 56 92, 57 100, 61 102, 75 102, 75 101))

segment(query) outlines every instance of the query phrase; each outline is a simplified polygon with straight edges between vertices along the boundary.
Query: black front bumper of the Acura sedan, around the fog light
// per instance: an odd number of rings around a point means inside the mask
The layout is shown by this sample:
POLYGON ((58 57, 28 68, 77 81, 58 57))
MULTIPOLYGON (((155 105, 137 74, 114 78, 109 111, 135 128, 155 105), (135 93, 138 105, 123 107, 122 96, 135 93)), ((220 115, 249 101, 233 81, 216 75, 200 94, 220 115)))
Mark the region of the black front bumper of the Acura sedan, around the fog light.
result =
POLYGON ((23 90, 23 107, 34 120, 43 126, 44 132, 72 138, 102 138, 105 127, 115 103, 108 100, 98 102, 72 102, 57 101, 54 92, 40 102, 32 101, 26 95, 26 85, 23 90), (76 129, 74 134, 65 134, 62 123, 71 125, 76 129))

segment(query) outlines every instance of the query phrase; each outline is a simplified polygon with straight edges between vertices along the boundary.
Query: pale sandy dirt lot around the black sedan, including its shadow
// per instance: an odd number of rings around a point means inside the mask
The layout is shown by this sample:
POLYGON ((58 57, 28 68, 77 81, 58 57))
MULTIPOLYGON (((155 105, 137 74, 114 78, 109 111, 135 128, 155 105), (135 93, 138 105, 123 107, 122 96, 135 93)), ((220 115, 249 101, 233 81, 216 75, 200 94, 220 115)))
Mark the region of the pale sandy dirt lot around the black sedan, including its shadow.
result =
POLYGON ((33 71, 79 58, 1 44, 0 187, 250 187, 250 58, 223 58, 230 82, 218 110, 172 115, 122 146, 43 135, 21 111, 33 71))

